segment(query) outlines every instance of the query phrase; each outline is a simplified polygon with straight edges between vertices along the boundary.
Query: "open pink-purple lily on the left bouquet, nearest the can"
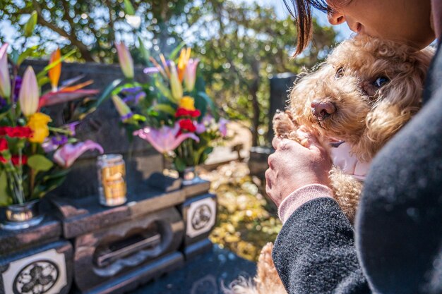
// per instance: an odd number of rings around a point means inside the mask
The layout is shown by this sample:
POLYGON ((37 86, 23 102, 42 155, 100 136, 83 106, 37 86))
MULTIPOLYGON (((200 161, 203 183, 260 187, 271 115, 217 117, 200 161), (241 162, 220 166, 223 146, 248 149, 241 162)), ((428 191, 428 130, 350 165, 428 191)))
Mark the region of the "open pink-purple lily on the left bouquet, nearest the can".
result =
POLYGON ((104 153, 103 147, 91 140, 78 142, 74 144, 65 144, 54 153, 54 161, 64 169, 72 166, 73 162, 80 157, 81 154, 88 150, 97 149, 100 154, 104 153))

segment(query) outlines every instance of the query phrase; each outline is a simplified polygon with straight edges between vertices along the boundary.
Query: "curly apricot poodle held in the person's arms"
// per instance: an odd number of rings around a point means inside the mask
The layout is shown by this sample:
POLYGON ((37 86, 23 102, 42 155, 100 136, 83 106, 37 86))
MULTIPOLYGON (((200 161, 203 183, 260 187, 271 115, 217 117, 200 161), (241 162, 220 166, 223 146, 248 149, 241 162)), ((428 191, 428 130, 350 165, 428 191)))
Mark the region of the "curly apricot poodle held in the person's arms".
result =
MULTIPOLYGON (((369 162, 421 106, 433 49, 415 51, 404 44, 366 36, 342 42, 311 72, 295 82, 287 111, 275 114, 275 135, 305 144, 295 132, 304 125, 328 148, 345 141, 359 161, 369 162), (314 105, 324 105, 321 113, 314 105)), ((353 221, 362 183, 333 166, 335 200, 353 221)), ((244 278, 230 293, 286 293, 271 259, 273 245, 263 247, 254 281, 244 278)))

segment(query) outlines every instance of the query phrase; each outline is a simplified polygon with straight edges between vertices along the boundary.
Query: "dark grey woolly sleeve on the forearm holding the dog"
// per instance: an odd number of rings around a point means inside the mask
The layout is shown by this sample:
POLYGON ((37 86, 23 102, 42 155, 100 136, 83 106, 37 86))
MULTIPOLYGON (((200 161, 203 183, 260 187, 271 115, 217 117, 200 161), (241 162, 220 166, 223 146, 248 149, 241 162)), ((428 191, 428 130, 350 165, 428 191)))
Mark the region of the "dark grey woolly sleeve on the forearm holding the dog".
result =
POLYGON ((289 294, 371 293, 353 228, 330 197, 301 205, 282 226, 273 261, 289 294))

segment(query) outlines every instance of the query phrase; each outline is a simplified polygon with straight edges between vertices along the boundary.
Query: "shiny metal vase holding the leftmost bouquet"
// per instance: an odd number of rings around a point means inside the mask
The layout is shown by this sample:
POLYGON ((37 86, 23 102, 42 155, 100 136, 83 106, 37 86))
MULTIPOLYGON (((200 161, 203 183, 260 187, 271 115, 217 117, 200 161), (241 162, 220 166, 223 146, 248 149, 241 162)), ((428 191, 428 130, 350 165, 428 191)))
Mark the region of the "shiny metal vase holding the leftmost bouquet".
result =
POLYGON ((1 223, 1 228, 5 230, 21 230, 37 226, 43 220, 39 206, 40 199, 24 204, 8 205, 5 209, 5 221, 1 223))

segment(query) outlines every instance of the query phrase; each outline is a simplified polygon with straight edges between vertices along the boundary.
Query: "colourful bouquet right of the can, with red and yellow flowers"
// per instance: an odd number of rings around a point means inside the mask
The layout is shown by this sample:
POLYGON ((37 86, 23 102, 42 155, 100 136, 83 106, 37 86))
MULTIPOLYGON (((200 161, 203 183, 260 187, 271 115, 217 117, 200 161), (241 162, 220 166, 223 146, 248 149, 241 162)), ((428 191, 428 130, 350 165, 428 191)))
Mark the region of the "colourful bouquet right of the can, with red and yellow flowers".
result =
POLYGON ((114 88, 112 100, 129 134, 148 141, 183 173, 203 164, 225 137, 227 121, 218 118, 215 104, 205 93, 197 73, 198 59, 191 58, 190 48, 179 49, 169 59, 160 54, 159 62, 150 57, 153 66, 144 73, 150 75, 151 82, 141 84, 133 80, 129 50, 117 44, 126 80, 114 88))

